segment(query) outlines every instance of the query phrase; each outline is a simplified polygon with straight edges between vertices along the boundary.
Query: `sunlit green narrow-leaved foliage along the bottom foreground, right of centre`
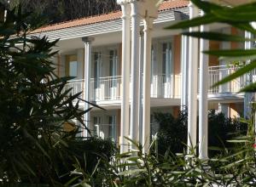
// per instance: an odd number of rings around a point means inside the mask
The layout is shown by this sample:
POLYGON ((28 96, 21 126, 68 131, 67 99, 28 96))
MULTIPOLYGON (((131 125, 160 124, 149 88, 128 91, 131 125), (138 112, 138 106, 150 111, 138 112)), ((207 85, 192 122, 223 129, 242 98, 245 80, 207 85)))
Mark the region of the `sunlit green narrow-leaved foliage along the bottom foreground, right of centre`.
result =
MULTIPOLYGON (((158 141, 154 139, 151 149, 143 154, 143 147, 134 144, 134 150, 124 154, 116 153, 112 161, 102 161, 90 175, 77 166, 77 178, 83 177, 79 186, 255 186, 256 159, 253 150, 252 123, 247 121, 247 136, 230 140, 231 149, 214 159, 201 160, 195 156, 180 153, 160 155, 158 141)), ((72 184, 72 181, 70 182, 72 184)))

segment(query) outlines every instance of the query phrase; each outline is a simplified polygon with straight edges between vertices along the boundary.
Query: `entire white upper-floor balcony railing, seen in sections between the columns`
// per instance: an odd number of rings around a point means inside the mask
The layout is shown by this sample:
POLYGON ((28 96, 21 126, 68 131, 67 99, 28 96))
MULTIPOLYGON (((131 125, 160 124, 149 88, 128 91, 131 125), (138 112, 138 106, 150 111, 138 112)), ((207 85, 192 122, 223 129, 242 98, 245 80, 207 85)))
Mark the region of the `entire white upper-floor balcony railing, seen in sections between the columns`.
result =
MULTIPOLYGON (((219 65, 209 67, 209 89, 208 94, 230 94, 234 95, 247 84, 248 75, 212 88, 212 85, 222 78, 229 76, 239 67, 236 65, 219 65)), ((256 73, 250 73, 251 80, 256 80, 256 73)), ((120 100, 122 77, 100 77, 90 79, 90 101, 120 100)), ((180 99, 181 97, 181 75, 154 75, 151 77, 151 98, 180 99)), ((75 80, 67 83, 67 88, 73 88, 72 94, 82 92, 84 80, 75 80)), ((84 97, 84 95, 82 95, 84 97)))

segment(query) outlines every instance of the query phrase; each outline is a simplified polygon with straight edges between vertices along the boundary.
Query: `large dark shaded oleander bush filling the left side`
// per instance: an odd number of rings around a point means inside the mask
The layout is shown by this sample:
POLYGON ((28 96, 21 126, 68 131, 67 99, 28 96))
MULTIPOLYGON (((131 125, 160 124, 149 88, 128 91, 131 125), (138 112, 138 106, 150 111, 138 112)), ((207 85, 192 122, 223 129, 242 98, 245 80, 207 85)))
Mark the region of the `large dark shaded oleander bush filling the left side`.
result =
POLYGON ((102 156, 113 154, 113 144, 77 138, 89 131, 83 116, 91 108, 81 110, 79 103, 87 101, 65 89, 72 77, 55 75, 58 41, 27 37, 31 20, 18 7, 0 22, 0 184, 61 186, 74 163, 90 173, 102 156), (66 132, 63 124, 73 120, 81 126, 66 132))

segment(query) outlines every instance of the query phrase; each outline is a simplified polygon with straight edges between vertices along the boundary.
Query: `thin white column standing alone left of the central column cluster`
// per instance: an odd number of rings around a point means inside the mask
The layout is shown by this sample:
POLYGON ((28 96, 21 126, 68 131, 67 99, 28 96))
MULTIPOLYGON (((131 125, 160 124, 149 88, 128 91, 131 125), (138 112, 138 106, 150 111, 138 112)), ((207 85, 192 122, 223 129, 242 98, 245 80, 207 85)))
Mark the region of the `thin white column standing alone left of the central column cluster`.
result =
MULTIPOLYGON (((91 42, 94 39, 91 37, 83 37, 84 42, 84 100, 90 101, 90 64, 91 64, 91 42)), ((84 111, 88 110, 90 105, 84 102, 84 111)), ((90 128, 90 112, 84 114, 84 124, 90 128)), ((88 137, 88 131, 83 131, 83 136, 88 137)))

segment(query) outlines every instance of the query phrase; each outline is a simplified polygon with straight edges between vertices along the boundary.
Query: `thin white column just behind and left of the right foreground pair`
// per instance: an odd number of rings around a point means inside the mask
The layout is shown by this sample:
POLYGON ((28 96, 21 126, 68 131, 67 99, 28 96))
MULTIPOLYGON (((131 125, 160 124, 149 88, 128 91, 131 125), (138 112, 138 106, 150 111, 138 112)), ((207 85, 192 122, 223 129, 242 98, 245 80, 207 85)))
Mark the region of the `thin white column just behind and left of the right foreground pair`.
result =
POLYGON ((182 36, 182 87, 181 87, 181 110, 188 106, 188 74, 189 74, 189 37, 182 36))

